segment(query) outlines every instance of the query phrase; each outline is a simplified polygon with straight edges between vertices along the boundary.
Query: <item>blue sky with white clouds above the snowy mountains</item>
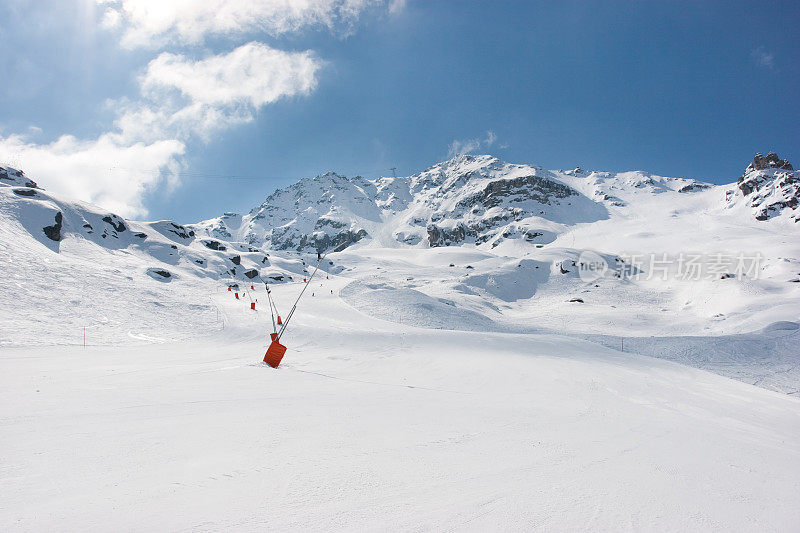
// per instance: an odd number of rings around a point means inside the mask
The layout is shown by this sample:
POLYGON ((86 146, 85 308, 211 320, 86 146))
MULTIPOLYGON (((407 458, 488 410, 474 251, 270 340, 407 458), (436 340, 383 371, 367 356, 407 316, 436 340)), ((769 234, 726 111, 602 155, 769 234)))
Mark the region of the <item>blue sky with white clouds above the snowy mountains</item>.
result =
POLYGON ((0 160, 180 222, 464 150, 716 183, 800 164, 796 1, 227 5, 0 0, 0 160))

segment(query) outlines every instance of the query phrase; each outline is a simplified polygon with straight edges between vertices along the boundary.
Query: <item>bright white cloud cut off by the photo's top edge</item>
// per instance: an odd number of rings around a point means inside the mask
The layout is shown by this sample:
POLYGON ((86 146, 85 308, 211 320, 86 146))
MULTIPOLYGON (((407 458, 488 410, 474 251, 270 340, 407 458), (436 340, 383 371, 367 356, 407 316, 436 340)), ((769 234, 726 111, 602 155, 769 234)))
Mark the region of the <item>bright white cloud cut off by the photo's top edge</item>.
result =
MULTIPOLYGON (((123 45, 198 44, 208 36, 280 35, 321 26, 348 33, 359 15, 385 0, 98 0, 124 20, 123 45)), ((402 2, 399 2, 402 4, 402 2)), ((402 7, 395 0, 390 6, 402 7)), ((394 11, 393 11, 394 12, 394 11)))

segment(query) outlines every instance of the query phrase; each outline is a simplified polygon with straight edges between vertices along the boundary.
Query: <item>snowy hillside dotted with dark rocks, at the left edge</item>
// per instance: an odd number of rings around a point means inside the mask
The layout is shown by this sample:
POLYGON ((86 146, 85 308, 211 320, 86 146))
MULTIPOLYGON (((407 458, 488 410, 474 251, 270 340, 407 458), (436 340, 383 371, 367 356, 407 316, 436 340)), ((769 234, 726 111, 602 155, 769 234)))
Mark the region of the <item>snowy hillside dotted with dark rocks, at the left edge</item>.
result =
POLYGON ((187 337, 221 327, 214 291, 305 268, 171 221, 124 220, 0 167, 0 346, 80 344, 84 328, 94 344, 187 337))

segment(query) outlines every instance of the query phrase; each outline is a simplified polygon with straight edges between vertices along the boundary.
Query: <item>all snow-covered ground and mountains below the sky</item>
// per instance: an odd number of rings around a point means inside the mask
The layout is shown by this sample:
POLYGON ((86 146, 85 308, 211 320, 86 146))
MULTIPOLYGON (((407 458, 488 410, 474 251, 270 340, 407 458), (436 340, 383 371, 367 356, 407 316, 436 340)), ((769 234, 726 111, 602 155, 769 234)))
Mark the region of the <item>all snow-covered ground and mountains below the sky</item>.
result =
POLYGON ((179 224, 0 167, 0 529, 796 531, 797 183, 459 156, 179 224))

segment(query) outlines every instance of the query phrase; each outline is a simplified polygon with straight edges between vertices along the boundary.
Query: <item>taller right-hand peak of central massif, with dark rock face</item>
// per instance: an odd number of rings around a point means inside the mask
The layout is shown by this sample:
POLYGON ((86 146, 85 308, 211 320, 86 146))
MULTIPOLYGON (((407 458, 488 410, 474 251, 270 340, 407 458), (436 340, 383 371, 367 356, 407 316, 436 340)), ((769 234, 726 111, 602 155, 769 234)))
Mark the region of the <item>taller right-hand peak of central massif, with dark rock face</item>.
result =
POLYGON ((488 155, 434 165, 411 176, 409 185, 413 199, 395 220, 395 236, 412 245, 545 244, 567 225, 605 216, 602 206, 553 172, 488 155))

